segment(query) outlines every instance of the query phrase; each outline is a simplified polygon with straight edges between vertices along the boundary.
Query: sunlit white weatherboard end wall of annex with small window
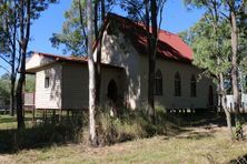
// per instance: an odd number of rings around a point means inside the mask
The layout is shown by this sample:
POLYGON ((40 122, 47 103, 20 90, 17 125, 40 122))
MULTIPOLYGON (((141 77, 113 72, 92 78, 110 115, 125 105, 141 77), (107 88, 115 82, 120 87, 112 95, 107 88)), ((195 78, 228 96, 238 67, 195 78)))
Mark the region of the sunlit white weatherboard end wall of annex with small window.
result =
POLYGON ((36 73, 36 109, 61 109, 62 65, 55 64, 36 73), (46 76, 50 78, 45 88, 46 76))

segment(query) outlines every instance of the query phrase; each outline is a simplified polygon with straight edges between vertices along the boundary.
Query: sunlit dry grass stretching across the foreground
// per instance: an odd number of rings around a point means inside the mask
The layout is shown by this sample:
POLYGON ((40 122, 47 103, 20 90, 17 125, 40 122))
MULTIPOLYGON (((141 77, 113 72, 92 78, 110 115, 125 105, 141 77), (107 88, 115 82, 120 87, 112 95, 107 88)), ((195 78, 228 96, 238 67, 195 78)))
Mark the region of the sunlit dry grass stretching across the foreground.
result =
MULTIPOLYGON (((0 117, 0 125, 2 117, 0 117)), ((2 125, 1 125, 2 126, 2 125)), ((247 126, 245 126, 247 132, 247 126)), ((162 135, 92 148, 85 144, 52 144, 48 147, 0 154, 0 163, 237 163, 247 156, 247 142, 231 142, 227 130, 216 124, 182 127, 162 135)), ((246 157, 247 158, 247 157, 246 157)))

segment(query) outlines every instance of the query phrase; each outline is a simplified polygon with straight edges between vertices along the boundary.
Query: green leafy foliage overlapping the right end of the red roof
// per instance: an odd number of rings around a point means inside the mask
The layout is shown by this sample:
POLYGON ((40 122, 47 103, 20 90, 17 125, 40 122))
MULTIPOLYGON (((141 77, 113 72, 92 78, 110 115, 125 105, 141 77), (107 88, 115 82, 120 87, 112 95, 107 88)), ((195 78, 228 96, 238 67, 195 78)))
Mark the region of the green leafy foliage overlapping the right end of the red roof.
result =
MULTIPOLYGON (((205 16, 208 17, 208 16, 205 16)), ((194 50, 194 64, 208 70, 211 74, 227 73, 230 69, 230 33, 225 20, 218 24, 217 33, 207 19, 201 18, 180 37, 194 50)))

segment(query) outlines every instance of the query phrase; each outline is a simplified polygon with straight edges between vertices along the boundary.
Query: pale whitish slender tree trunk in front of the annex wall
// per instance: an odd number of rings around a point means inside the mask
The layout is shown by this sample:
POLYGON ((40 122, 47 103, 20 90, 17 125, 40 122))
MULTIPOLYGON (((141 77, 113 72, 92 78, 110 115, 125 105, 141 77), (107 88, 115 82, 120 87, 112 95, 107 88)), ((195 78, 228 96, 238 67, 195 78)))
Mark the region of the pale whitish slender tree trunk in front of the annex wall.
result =
POLYGON ((96 135, 96 69, 92 57, 92 6, 87 0, 87 27, 88 27, 88 70, 89 70, 89 140, 92 146, 97 146, 96 135))

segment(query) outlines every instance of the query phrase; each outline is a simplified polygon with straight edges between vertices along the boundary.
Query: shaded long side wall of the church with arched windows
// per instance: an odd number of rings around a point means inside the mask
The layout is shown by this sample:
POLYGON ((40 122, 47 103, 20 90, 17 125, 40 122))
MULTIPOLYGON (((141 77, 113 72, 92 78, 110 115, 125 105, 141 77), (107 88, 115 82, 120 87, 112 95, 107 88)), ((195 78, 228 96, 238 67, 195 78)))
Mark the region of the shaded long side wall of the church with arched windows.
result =
MULTIPOLYGON (((146 57, 141 58, 141 102, 147 103, 147 81, 148 68, 146 57)), ((156 95, 156 105, 161 105, 167 109, 207 109, 209 85, 215 88, 213 81, 206 76, 201 78, 201 72, 191 64, 174 62, 168 60, 157 60, 156 70, 162 73, 162 95, 156 95), (175 74, 179 72, 181 78, 181 96, 175 96, 175 74), (190 78, 197 78, 197 96, 190 96, 190 78)), ((216 89, 215 89, 216 90, 216 89)), ((216 102, 216 100, 214 100, 216 102)), ((144 104, 145 105, 145 104, 144 104)))

